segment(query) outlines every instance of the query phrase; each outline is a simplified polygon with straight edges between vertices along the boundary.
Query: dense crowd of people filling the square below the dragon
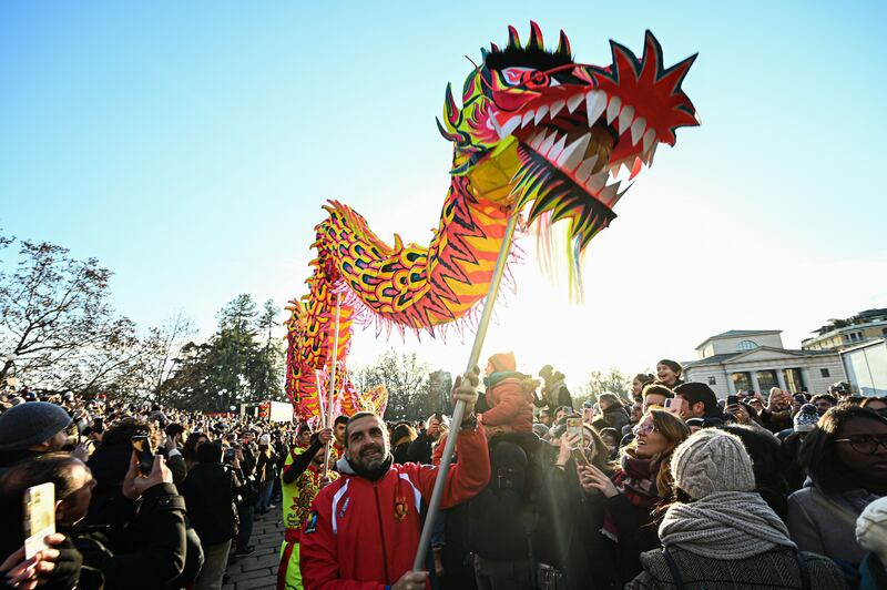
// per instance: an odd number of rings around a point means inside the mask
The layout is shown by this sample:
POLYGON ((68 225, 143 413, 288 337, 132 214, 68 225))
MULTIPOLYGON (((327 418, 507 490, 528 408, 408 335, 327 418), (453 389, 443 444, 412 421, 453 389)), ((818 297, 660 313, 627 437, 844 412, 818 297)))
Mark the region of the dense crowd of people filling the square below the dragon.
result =
POLYGON ((459 425, 11 393, 0 583, 221 588, 254 515, 279 509, 279 589, 887 588, 887 398, 835 384, 718 399, 663 359, 628 396, 577 404, 554 367, 538 376, 491 356, 457 378, 459 425), (45 482, 57 532, 28 556, 23 498, 45 482))

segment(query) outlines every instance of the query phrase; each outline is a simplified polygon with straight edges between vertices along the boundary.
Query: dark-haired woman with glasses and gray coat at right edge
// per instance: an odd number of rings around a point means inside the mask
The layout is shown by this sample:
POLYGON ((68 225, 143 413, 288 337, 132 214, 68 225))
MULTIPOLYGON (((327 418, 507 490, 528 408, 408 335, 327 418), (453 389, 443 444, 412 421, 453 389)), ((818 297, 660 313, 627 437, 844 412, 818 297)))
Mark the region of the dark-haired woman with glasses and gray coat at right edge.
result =
POLYGON ((819 418, 798 460, 810 484, 788 497, 788 531, 803 551, 858 563, 856 519, 887 495, 887 418, 840 404, 819 418))

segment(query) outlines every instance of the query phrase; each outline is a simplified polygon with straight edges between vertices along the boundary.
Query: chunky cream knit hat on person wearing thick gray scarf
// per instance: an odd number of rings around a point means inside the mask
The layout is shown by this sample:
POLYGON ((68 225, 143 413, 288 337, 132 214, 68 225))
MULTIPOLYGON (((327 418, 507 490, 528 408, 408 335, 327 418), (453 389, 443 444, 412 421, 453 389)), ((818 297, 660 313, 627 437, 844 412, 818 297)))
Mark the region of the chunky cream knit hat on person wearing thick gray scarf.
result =
POLYGON ((674 484, 699 500, 718 491, 752 491, 752 459, 738 437, 703 428, 672 456, 674 484))

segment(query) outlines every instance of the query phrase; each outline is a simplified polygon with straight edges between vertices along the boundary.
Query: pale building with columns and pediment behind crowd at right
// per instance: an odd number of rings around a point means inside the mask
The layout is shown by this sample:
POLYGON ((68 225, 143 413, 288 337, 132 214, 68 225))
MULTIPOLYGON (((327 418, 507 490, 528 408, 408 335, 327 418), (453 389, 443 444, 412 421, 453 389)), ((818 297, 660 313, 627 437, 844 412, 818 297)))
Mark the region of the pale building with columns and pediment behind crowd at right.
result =
POLYGON ((718 398, 771 387, 789 393, 824 393, 847 380, 837 350, 793 350, 779 329, 732 329, 696 346, 699 359, 684 363, 684 380, 708 384, 718 398))

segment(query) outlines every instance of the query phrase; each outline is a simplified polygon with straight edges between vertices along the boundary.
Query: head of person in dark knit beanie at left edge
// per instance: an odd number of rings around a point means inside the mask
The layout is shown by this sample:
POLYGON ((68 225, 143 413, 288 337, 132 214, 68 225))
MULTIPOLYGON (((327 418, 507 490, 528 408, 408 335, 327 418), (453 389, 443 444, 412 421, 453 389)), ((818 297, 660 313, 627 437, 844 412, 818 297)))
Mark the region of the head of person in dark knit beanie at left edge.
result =
POLYGON ((55 404, 29 401, 0 414, 0 475, 11 465, 61 449, 71 416, 55 404))

